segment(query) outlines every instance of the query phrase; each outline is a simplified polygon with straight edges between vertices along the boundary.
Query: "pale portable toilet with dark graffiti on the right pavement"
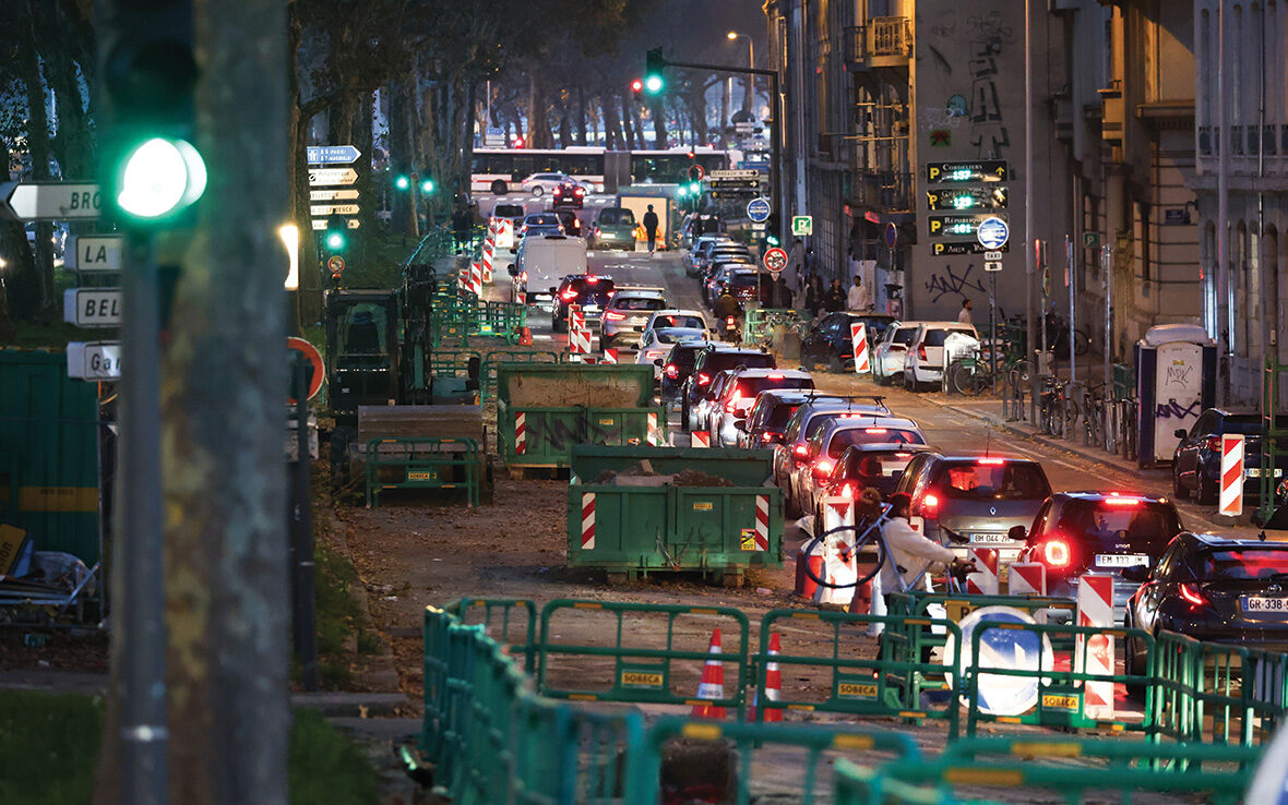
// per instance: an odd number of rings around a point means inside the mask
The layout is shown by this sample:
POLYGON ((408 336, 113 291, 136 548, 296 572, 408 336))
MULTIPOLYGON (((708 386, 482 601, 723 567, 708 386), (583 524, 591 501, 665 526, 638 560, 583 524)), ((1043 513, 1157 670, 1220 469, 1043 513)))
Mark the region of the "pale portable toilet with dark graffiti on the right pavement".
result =
POLYGON ((1216 404, 1216 343, 1198 325, 1155 325, 1136 341, 1137 462, 1171 462, 1177 429, 1216 404))

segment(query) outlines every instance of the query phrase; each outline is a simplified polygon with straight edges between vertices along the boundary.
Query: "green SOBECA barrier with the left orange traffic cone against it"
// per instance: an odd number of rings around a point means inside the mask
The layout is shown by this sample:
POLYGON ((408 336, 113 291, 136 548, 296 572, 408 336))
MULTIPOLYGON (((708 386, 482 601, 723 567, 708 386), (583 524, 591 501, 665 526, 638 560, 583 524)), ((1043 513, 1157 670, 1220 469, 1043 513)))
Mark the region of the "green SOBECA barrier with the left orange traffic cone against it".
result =
MULTIPOLYGON (((569 625, 571 626, 571 625, 569 625)), ((564 632, 577 631, 569 627, 564 632)), ((677 604, 625 604, 617 601, 582 601, 555 599, 541 608, 541 622, 537 638, 537 692, 542 696, 582 702, 650 702, 654 705, 711 705, 714 707, 733 707, 741 714, 743 690, 751 679, 748 663, 748 621, 742 611, 732 607, 683 607, 677 604), (603 613, 616 621, 616 639, 612 645, 590 645, 558 640, 551 629, 556 614, 603 613), (677 648, 681 636, 676 630, 676 620, 681 616, 703 616, 716 618, 703 621, 706 634, 696 635, 698 644, 693 649, 677 648), (658 638, 644 631, 645 618, 665 618, 663 648, 652 648, 658 638), (728 649, 721 644, 720 652, 707 652, 707 638, 711 627, 724 627, 723 640, 732 641, 737 648, 728 649), (701 644, 701 648, 698 645, 701 644), (590 670, 578 670, 577 679, 582 687, 572 688, 553 680, 558 670, 556 658, 576 657, 594 666, 595 658, 611 661, 612 677, 599 680, 598 689, 585 687, 594 681, 590 670), (724 663, 725 693, 721 699, 697 699, 694 694, 675 690, 677 684, 692 684, 694 692, 701 677, 702 665, 707 661, 724 663), (694 666, 693 663, 697 663, 694 666), (676 671, 689 671, 692 680, 676 680, 676 671), (733 690, 729 694, 729 689, 733 690)))

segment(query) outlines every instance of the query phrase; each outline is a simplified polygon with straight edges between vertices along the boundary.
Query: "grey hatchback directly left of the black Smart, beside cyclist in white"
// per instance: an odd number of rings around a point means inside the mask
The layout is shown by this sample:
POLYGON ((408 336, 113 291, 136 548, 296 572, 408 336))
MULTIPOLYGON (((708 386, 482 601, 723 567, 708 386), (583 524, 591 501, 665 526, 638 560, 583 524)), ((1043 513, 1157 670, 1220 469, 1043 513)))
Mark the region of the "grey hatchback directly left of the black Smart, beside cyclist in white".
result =
POLYGON ((913 456, 895 492, 912 496, 913 524, 927 537, 952 541, 963 558, 970 545, 996 547, 1010 564, 1024 549, 1011 528, 1033 523, 1051 483, 1030 459, 927 452, 913 456))

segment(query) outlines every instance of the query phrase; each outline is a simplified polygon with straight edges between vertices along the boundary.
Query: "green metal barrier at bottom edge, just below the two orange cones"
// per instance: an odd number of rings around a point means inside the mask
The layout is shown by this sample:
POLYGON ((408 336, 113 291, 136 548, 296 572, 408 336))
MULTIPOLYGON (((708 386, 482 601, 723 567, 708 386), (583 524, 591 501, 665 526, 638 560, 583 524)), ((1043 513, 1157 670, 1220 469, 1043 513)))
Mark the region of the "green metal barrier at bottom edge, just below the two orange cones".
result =
MULTIPOLYGON (((894 760, 916 760, 920 757, 917 744, 902 733, 889 730, 866 730, 849 726, 829 726, 822 729, 814 725, 790 724, 720 724, 712 721, 690 721, 688 719, 663 717, 649 728, 643 746, 640 766, 644 769, 657 769, 662 766, 663 751, 668 742, 724 742, 733 748, 737 755, 737 773, 734 774, 734 792, 725 792, 720 801, 747 805, 752 801, 765 801, 774 799, 765 788, 773 783, 783 786, 782 793, 792 796, 793 802, 800 805, 813 805, 813 802, 826 797, 818 797, 815 788, 820 782, 819 766, 828 760, 828 752, 885 752, 894 760), (765 782, 756 781, 753 774, 753 761, 757 751, 773 755, 779 759, 784 751, 795 750, 805 755, 805 769, 800 781, 795 777, 784 777, 779 769, 770 765, 772 772, 766 774, 765 782), (772 781, 772 782, 770 782, 772 781), (752 800, 751 787, 756 782, 757 797, 752 800), (729 799, 729 793, 734 799, 729 799), (795 796, 793 796, 795 795, 795 796), (799 799, 797 799, 799 797, 799 799)), ((838 761, 841 759, 837 759, 838 761)), ((764 761, 773 764, 772 760, 764 761)), ((659 802, 662 791, 657 774, 641 774, 639 777, 640 788, 634 802, 659 802)), ((778 793, 778 792, 774 792, 778 793)), ((677 799, 671 793, 670 799, 677 799)), ((777 799, 774 799, 777 801, 777 799)))

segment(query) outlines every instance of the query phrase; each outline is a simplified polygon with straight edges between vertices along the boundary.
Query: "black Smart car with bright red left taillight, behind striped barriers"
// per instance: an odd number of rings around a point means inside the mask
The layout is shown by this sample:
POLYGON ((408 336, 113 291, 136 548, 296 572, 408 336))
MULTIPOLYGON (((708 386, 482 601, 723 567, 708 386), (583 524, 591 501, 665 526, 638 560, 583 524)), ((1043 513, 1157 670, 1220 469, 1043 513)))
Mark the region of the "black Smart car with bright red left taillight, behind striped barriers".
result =
MULTIPOLYGON (((1083 573, 1112 574, 1114 617, 1122 620, 1123 607, 1139 586, 1123 573, 1151 567, 1181 528, 1181 515, 1166 497, 1057 492, 1042 504, 1032 529, 1023 535, 1025 546, 1018 562, 1043 564, 1047 595, 1061 598, 1077 598, 1083 573)), ((1012 532, 1012 537, 1020 536, 1012 532)))

